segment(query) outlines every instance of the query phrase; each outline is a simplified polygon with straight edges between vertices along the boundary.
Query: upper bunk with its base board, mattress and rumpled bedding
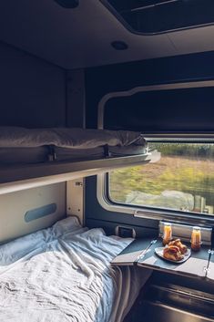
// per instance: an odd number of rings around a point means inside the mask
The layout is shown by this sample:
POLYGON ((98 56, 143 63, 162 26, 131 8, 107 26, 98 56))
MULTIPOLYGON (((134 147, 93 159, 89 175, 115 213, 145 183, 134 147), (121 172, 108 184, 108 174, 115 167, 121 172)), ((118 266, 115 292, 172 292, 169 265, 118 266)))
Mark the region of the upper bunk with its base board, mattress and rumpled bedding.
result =
MULTIPOLYGON (((153 158, 157 154, 153 153, 153 158)), ((0 128, 0 193, 147 163, 140 132, 70 128, 0 128)))

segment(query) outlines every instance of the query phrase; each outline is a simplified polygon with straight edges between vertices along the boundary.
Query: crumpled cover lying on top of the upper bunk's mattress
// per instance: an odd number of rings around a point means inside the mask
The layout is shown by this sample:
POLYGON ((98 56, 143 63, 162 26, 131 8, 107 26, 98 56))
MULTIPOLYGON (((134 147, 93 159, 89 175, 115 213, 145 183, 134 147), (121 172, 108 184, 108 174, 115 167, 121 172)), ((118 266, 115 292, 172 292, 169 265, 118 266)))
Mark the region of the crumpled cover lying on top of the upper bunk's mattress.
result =
POLYGON ((147 145, 140 132, 126 130, 0 127, 0 148, 35 148, 54 145, 67 149, 93 149, 104 145, 129 146, 131 144, 147 145))

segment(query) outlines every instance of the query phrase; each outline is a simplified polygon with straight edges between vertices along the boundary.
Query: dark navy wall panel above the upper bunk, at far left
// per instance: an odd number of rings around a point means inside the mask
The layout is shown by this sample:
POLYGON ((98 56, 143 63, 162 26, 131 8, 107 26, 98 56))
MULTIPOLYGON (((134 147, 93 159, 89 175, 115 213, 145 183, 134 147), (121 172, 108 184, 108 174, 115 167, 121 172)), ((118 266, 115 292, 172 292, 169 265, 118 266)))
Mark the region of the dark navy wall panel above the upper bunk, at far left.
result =
POLYGON ((0 126, 66 124, 65 71, 0 43, 0 126))

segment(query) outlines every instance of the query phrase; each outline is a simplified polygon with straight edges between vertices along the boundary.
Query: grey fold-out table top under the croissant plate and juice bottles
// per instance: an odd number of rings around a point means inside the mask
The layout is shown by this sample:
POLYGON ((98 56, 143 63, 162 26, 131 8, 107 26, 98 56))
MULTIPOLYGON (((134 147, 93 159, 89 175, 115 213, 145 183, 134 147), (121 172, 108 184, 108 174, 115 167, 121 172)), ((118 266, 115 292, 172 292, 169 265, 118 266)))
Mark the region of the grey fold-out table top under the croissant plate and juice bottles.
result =
MULTIPOLYGON (((151 244, 151 241, 152 238, 136 239, 111 263, 113 265, 138 265, 172 274, 206 277, 214 280, 214 254, 209 254, 210 246, 202 245, 199 252, 191 251, 189 259, 179 264, 168 262, 155 253, 156 247, 163 247, 161 239, 158 238, 155 244, 151 244), (140 254, 141 257, 138 258, 140 254)), ((190 244, 185 244, 190 248, 190 244)))

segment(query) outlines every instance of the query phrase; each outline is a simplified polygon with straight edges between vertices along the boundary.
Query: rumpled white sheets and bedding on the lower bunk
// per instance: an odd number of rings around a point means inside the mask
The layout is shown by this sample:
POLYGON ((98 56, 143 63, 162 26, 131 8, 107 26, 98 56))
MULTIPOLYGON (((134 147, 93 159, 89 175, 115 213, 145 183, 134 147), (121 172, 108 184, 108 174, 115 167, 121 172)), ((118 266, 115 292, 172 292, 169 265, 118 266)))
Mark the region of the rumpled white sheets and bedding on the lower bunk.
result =
POLYGON ((1 321, 122 321, 150 275, 110 266, 131 241, 67 217, 1 245, 1 321))

